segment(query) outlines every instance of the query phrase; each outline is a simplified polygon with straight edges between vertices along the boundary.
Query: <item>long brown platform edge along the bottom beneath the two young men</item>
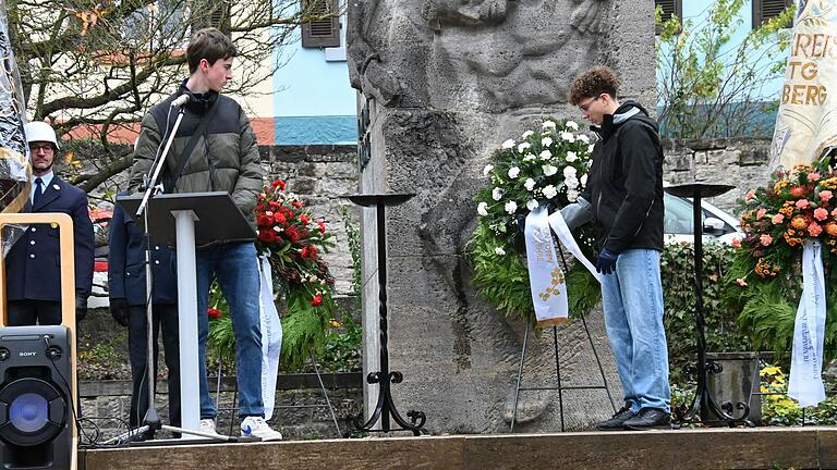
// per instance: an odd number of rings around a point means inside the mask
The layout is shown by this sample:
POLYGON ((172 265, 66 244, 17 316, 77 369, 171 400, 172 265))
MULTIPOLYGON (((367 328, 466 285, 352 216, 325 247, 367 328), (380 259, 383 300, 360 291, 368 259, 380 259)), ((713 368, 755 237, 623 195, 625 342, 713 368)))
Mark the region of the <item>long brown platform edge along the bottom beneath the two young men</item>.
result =
POLYGON ((96 449, 86 470, 837 469, 837 428, 368 437, 96 449))

